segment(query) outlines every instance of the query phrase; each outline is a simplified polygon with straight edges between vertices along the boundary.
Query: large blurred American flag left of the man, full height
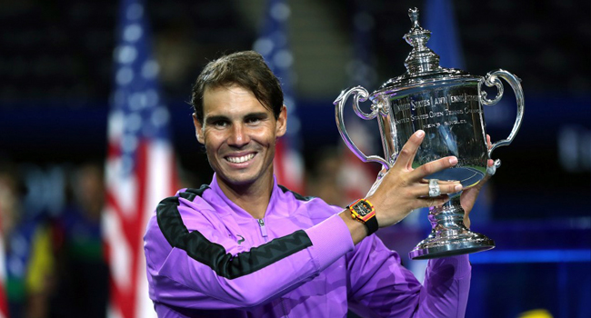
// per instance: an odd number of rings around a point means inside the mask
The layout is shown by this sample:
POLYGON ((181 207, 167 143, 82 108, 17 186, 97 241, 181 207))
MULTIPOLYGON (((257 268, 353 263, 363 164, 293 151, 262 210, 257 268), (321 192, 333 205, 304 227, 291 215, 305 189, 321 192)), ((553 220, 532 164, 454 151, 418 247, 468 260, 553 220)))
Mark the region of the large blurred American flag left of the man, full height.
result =
POLYGON ((155 316, 148 298, 142 237, 159 200, 175 194, 170 115, 157 82, 142 0, 122 0, 115 47, 115 89, 108 117, 103 220, 111 270, 109 317, 155 316))

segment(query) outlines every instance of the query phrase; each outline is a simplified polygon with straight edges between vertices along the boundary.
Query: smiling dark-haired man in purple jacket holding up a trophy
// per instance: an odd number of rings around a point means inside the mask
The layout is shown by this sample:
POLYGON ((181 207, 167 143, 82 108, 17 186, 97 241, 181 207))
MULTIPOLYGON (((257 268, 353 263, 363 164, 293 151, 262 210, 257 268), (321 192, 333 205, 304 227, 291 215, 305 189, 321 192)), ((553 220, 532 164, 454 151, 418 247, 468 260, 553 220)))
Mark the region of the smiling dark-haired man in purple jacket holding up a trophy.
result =
MULTIPOLYGON (((261 55, 241 52, 206 65, 192 104, 196 137, 215 174, 211 184, 163 200, 147 225, 147 276, 160 317, 345 317, 348 309, 364 317, 464 315, 466 255, 430 261, 421 285, 372 235, 461 190, 442 182, 441 195, 429 196, 424 177, 457 159, 413 169, 424 132, 410 138, 365 200, 343 209, 276 184, 275 142, 285 134, 286 109, 261 55)), ((465 192, 466 212, 475 188, 465 192)))

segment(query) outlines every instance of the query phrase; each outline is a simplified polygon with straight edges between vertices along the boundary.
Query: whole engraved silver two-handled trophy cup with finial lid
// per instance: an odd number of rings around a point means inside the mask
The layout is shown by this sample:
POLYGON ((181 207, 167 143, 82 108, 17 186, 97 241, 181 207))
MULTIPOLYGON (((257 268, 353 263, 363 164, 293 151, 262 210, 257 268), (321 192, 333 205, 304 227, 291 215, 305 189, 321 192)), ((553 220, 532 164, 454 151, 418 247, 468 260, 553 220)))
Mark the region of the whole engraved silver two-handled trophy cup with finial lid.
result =
MULTIPOLYGON (((500 160, 497 159, 491 167, 487 167, 487 160, 497 147, 511 144, 521 126, 524 97, 520 79, 501 69, 482 77, 439 66, 439 56, 426 47, 431 32, 418 24, 418 10, 409 9, 408 15, 412 28, 404 38, 413 49, 406 57, 406 73, 388 80, 372 94, 362 86, 343 91, 335 101, 336 125, 346 145, 359 159, 380 163, 386 169, 394 165, 408 138, 422 129, 426 136, 413 166, 455 155, 459 161, 456 166, 431 174, 427 179, 457 180, 464 189, 469 188, 486 174, 495 174, 500 160), (488 149, 482 104, 496 104, 503 96, 503 84, 499 78, 503 78, 515 91, 516 122, 506 139, 488 149), (496 86, 494 99, 486 97, 482 84, 496 86), (377 118, 384 157, 367 156, 346 133, 343 110, 350 95, 353 95, 353 109, 359 117, 365 120, 377 118), (366 114, 359 108, 359 102, 368 98, 371 113, 366 114)), ((411 259, 475 253, 495 247, 495 242, 486 235, 466 228, 460 194, 451 194, 449 202, 430 208, 428 217, 433 231, 409 253, 411 259)))

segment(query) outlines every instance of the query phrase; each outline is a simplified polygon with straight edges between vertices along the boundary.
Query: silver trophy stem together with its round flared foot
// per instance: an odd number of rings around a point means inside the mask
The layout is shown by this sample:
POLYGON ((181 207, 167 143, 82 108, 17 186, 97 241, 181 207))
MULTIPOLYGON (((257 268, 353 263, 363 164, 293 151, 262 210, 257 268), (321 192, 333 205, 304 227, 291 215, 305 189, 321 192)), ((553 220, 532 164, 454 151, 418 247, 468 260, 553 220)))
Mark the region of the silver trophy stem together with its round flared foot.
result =
POLYGON ((495 247, 495 242, 486 235, 466 228, 460 194, 461 192, 451 194, 452 198, 446 204, 429 208, 429 221, 433 230, 408 253, 411 259, 424 260, 476 253, 495 247))

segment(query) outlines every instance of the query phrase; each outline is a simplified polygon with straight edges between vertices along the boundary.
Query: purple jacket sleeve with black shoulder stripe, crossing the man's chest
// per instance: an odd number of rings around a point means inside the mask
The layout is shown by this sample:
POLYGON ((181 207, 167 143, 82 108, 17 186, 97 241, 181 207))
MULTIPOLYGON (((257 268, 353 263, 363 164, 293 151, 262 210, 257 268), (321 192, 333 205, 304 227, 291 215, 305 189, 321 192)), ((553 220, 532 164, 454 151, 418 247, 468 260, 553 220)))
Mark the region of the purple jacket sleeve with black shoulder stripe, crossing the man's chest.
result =
POLYGON ((176 209, 188 207, 178 197, 165 201, 148 223, 145 256, 150 297, 175 307, 230 309, 265 303, 311 280, 354 248, 346 224, 334 215, 305 231, 242 251, 206 220, 191 220, 187 229, 176 209))

